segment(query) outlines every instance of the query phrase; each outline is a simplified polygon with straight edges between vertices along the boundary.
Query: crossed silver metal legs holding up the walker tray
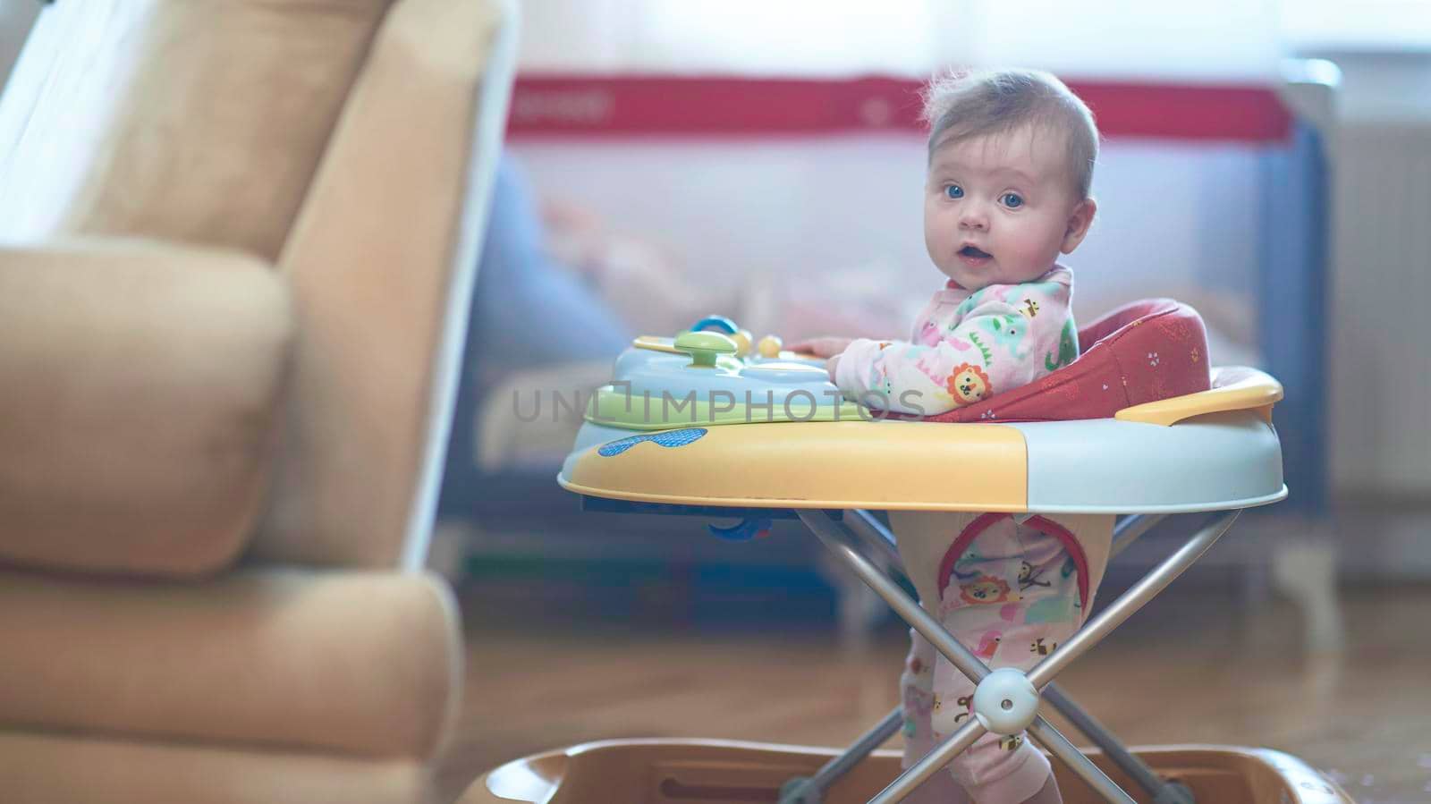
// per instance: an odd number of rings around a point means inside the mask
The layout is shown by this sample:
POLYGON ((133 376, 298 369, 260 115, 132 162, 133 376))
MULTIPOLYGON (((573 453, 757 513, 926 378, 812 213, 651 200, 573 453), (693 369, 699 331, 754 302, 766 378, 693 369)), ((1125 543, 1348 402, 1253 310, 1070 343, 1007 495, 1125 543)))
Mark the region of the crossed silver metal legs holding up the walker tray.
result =
MULTIPOLYGON (((1133 584, 1116 601, 1089 619, 1068 642, 1059 645, 1052 654, 1043 658, 1032 671, 1026 674, 1035 690, 1040 692, 1040 701, 1047 701, 1092 740, 1109 760, 1128 774, 1139 787, 1146 790, 1155 804, 1193 804, 1192 794, 1176 783, 1169 783, 1158 777, 1142 760, 1128 751, 1108 730, 1105 730, 1088 712, 1079 708, 1058 685, 1053 677, 1072 664, 1076 658, 1088 652, 1108 634, 1123 624, 1135 611, 1141 609, 1151 599, 1158 597, 1176 577, 1182 575, 1198 558, 1202 557, 1216 542, 1222 534, 1232 526, 1241 509, 1216 514, 1202 528, 1172 555, 1165 558, 1158 567, 1149 571, 1141 581, 1133 584)), ((844 565, 864 581, 877 595, 899 614, 914 631, 944 655, 970 681, 979 684, 989 675, 989 667, 963 647, 937 619, 920 608, 919 601, 910 597, 883 571, 876 561, 866 557, 857 546, 863 544, 879 559, 892 568, 902 567, 899 552, 894 548, 894 536, 889 528, 874 518, 869 511, 847 511, 850 516, 837 518, 827 511, 796 511, 796 515, 807 528, 830 549, 844 565)), ((1113 528, 1112 555, 1118 555, 1129 544, 1156 526, 1166 515, 1132 515, 1125 516, 1113 528)), ((889 740, 903 724, 903 711, 896 707, 874 728, 861 735, 850 748, 839 757, 826 763, 813 777, 791 780, 786 784, 780 795, 780 804, 819 804, 824 791, 834 784, 844 773, 867 757, 874 748, 889 740)), ((973 745, 987 730, 979 718, 969 718, 964 725, 944 738, 923 760, 902 773, 889 787, 871 798, 869 804, 894 804, 903 801, 924 780, 949 764, 956 755, 973 745)), ((1036 715, 1027 727, 1027 734, 1040 742, 1050 754, 1068 764, 1073 773, 1083 778, 1106 801, 1119 804, 1133 804, 1133 798, 1118 787, 1102 770, 1083 755, 1063 734, 1053 728, 1043 715, 1036 715)))

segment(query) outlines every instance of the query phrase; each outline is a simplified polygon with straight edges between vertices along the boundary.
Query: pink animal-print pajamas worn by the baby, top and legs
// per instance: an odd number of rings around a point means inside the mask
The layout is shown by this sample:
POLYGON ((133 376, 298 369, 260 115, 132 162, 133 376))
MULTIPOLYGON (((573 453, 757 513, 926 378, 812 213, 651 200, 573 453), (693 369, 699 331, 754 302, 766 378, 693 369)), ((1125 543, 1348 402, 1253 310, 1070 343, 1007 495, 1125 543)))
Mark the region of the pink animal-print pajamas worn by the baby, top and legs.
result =
MULTIPOLYGON (((1078 358, 1072 296, 1073 272, 1060 265, 1019 285, 969 290, 950 280, 909 340, 850 343, 834 382, 849 399, 914 416, 979 405, 1078 358)), ((960 472, 977 471, 950 466, 952 501, 960 472)), ((1083 624, 1113 531, 1106 515, 892 512, 890 524, 920 605, 985 664, 1020 670, 1083 624)), ((900 691, 907 767, 967 721, 975 684, 914 634, 900 691)), ((1022 734, 987 734, 950 771, 957 787, 937 774, 917 800, 950 804, 967 791, 975 801, 1026 801, 1047 781, 1049 761, 1022 734)))

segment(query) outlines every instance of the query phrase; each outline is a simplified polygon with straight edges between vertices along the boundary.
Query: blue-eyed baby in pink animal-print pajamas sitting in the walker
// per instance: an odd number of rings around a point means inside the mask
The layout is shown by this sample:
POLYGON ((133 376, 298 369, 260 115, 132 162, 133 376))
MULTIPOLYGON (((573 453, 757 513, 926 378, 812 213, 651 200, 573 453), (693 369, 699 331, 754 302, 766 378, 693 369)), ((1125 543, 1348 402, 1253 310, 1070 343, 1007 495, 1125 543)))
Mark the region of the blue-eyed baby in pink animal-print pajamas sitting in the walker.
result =
MULTIPOLYGON (((1000 70, 936 80, 924 116, 924 246, 944 286, 909 342, 791 345, 829 358, 830 378, 847 398, 913 415, 979 403, 1078 356, 1073 273, 1056 260, 1079 246, 1098 209, 1089 196, 1098 129, 1053 76, 1000 70)), ((963 471, 977 468, 950 466, 952 488, 963 471)), ((1112 524, 1103 515, 1016 522, 997 514, 892 512, 924 609, 986 664, 1023 670, 1082 625, 1112 524)), ((900 678, 906 767, 967 721, 975 687, 927 641, 914 632, 912 639, 900 678)), ((1023 735, 987 734, 950 771, 917 798, 1060 801, 1049 761, 1023 735)))

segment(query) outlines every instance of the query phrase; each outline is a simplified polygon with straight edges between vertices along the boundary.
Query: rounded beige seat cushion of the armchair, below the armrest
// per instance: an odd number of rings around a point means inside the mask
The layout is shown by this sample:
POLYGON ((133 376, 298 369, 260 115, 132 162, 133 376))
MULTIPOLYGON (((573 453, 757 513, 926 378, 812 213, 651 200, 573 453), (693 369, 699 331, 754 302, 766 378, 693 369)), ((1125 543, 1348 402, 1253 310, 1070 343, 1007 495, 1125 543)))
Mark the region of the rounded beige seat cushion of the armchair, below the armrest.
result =
POLYGON ((0 571, 0 634, 7 728, 426 761, 462 687, 456 604, 416 572, 0 571))

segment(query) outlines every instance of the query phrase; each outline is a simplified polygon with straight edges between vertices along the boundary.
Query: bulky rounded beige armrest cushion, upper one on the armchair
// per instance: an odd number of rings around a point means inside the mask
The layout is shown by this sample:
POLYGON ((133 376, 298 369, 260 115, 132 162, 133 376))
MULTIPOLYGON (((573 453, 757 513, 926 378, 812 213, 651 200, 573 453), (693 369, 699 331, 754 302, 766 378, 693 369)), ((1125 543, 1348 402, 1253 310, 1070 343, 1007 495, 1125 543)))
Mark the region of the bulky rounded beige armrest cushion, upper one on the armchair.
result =
POLYGON ((0 247, 0 562, 193 575, 232 561, 292 326, 282 280, 240 253, 0 247))

